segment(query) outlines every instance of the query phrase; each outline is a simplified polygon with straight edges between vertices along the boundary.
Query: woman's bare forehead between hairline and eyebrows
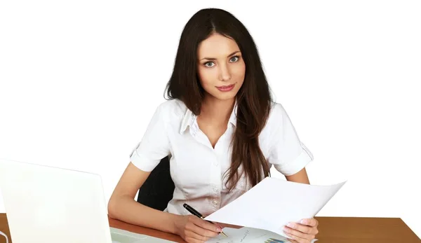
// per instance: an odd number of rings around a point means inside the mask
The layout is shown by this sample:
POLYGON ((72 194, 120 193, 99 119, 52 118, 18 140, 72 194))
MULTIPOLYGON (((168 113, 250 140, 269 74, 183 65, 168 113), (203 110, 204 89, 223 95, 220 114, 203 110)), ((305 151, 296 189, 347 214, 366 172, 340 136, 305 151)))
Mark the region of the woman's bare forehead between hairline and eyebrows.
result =
POLYGON ((226 58, 236 50, 240 48, 233 39, 215 33, 199 43, 197 55, 199 59, 203 57, 226 58))

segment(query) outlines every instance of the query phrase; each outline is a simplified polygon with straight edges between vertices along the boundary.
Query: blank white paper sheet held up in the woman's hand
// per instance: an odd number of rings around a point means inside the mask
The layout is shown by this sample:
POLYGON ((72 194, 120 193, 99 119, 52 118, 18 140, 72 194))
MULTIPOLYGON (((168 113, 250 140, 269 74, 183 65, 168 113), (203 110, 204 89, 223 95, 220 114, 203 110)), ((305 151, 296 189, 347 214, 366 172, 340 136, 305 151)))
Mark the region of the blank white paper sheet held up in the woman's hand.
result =
POLYGON ((313 218, 345 184, 317 186, 267 177, 206 217, 208 221, 283 233, 289 222, 313 218))

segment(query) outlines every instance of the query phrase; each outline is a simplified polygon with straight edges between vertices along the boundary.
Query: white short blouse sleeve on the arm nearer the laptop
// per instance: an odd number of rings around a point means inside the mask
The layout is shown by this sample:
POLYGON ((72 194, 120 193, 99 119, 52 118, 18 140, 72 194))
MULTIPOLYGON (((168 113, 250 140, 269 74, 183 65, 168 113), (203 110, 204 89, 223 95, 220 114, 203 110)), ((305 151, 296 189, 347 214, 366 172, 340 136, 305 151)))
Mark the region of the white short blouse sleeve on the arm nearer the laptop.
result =
POLYGON ((135 167, 145 172, 152 172, 161 159, 169 153, 165 107, 161 104, 149 121, 142 140, 132 151, 130 158, 135 167))

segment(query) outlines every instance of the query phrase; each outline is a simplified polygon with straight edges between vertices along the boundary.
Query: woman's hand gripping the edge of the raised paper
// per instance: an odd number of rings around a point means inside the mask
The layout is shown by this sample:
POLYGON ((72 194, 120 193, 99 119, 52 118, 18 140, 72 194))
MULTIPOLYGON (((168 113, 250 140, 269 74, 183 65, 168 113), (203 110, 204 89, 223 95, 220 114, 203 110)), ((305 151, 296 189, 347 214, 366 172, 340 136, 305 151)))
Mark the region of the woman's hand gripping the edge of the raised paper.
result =
POLYGON ((283 228, 283 232, 288 235, 288 238, 293 243, 309 243, 319 233, 317 225, 319 225, 319 221, 315 218, 305 218, 300 223, 288 223, 283 228))

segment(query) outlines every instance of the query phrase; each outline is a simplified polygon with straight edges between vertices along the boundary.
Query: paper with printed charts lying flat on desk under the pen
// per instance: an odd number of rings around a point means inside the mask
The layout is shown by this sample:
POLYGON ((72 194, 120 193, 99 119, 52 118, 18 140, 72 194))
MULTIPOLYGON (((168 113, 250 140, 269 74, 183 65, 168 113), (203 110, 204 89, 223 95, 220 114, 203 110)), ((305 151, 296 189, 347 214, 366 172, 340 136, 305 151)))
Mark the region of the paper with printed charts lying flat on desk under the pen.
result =
MULTIPOLYGON (((276 243, 288 243, 290 242, 286 237, 275 234, 268 230, 260 230, 255 228, 224 228, 225 234, 228 237, 223 235, 218 235, 209 239, 208 243, 266 243, 266 242, 276 242, 276 243)), ((314 239, 312 242, 315 242, 314 239)))

